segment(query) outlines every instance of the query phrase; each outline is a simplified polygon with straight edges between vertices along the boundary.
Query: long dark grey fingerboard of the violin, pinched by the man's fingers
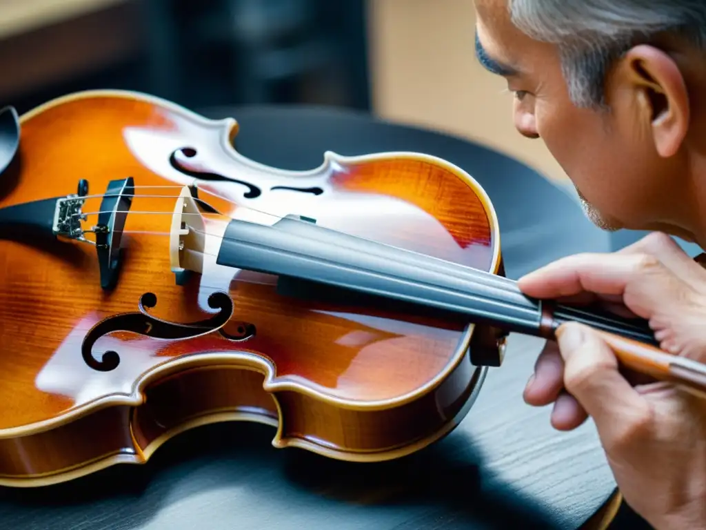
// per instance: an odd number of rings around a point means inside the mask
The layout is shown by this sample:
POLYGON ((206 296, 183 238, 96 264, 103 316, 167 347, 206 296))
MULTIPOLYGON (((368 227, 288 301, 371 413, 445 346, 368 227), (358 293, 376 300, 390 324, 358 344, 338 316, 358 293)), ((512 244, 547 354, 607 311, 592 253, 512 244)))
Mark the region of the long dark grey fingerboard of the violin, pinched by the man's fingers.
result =
POLYGON ((508 278, 322 228, 306 218, 288 216, 273 226, 231 220, 217 263, 427 307, 521 334, 551 337, 556 327, 573 320, 654 342, 645 322, 550 307, 525 296, 508 278))

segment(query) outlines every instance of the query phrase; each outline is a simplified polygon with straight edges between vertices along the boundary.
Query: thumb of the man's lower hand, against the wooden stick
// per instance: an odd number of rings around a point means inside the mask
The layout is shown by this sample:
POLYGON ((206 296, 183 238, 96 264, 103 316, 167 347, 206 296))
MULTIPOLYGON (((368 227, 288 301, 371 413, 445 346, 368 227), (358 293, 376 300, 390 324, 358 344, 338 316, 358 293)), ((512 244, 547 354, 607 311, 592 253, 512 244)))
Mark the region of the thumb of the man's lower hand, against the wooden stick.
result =
POLYGON ((570 322, 559 327, 556 338, 564 360, 564 387, 599 430, 643 405, 640 394, 618 372, 618 360, 599 334, 570 322))

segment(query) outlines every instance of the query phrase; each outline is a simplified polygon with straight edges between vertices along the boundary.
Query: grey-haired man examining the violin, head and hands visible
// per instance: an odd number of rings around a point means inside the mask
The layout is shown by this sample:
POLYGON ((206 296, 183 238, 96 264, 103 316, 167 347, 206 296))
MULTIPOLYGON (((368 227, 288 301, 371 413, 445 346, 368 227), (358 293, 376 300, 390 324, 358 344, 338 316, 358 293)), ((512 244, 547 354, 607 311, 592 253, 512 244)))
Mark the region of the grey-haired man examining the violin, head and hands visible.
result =
MULTIPOLYGON (((542 139, 587 216, 650 230, 614 254, 568 257, 527 295, 602 300, 650 320, 662 349, 706 363, 706 1, 475 0, 476 52, 513 92, 520 134, 542 139)), ((706 401, 635 381, 597 334, 558 331, 525 389, 551 423, 590 416, 626 502, 657 530, 706 529, 706 401)))

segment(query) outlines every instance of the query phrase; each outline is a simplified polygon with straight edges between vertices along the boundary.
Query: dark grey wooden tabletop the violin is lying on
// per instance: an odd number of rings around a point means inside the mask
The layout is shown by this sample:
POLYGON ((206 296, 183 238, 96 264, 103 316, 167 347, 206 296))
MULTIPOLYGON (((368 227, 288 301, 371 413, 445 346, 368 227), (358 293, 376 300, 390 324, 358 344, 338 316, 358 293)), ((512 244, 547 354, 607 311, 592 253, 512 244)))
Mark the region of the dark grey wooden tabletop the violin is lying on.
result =
MULTIPOLYGON (((606 252, 563 189, 474 143, 313 107, 205 112, 235 117, 237 149, 302 170, 324 151, 420 151, 467 170, 501 223, 508 276, 574 252, 606 252)), ((263 425, 209 425, 167 442, 145 466, 121 466, 37 490, 0 489, 0 528, 104 529, 577 529, 609 500, 614 479, 592 423, 570 433, 550 408, 522 401, 543 341, 510 336, 462 424, 422 452, 383 464, 274 449, 263 425)))

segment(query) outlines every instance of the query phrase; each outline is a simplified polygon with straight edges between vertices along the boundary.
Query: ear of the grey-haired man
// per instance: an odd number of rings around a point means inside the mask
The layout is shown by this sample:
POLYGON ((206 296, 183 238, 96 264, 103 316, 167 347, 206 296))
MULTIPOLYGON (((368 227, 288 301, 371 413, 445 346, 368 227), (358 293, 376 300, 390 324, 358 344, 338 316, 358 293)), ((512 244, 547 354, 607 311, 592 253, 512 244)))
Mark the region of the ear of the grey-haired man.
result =
POLYGON ((675 155, 686 137, 689 96, 676 61, 649 45, 630 49, 618 64, 620 85, 630 88, 640 129, 650 130, 657 152, 664 158, 675 155))

